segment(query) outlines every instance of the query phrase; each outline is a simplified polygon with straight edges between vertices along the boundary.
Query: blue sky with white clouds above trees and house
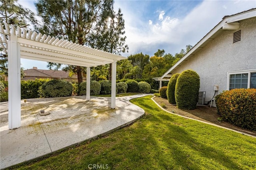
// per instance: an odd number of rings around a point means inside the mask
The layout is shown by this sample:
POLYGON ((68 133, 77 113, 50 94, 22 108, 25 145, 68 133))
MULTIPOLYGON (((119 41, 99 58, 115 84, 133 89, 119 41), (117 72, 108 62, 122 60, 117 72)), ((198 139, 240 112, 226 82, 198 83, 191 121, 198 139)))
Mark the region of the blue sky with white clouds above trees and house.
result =
MULTIPOLYGON (((22 6, 35 11, 34 1, 19 0, 22 6)), ((129 53, 142 52, 153 56, 158 49, 179 53, 186 45, 196 45, 224 16, 256 8, 255 0, 116 0, 125 20, 126 44, 129 53)), ((21 59, 25 69, 37 66, 47 69, 46 62, 21 59)))

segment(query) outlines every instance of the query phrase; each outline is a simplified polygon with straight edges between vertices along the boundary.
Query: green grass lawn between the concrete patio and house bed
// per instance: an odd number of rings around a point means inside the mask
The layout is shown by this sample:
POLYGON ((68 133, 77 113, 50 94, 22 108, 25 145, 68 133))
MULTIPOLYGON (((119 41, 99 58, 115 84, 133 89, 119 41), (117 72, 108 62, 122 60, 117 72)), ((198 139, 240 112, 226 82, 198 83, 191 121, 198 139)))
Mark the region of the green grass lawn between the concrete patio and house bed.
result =
POLYGON ((51 156, 20 164, 15 169, 256 169, 256 138, 172 115, 150 99, 132 103, 146 115, 105 137, 51 156))

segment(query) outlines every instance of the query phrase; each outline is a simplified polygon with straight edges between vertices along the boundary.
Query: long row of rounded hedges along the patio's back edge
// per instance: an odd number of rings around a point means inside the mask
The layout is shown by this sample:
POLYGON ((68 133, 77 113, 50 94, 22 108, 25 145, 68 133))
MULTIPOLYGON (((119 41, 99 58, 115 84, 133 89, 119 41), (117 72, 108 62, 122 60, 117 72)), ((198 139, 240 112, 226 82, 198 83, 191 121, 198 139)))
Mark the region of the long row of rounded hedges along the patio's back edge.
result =
MULTIPOLYGON (((140 92, 150 93, 151 86, 147 82, 136 82, 128 80, 127 82, 116 83, 116 93, 140 92)), ((8 101, 8 82, 0 82, 0 102, 8 101)), ((155 92, 154 90, 152 90, 155 92)), ((50 98, 71 96, 73 94, 86 95, 86 82, 80 86, 76 83, 70 83, 66 80, 36 79, 21 81, 21 99, 29 98, 50 98)), ((111 94, 111 81, 103 80, 100 82, 91 81, 90 94, 111 94)))

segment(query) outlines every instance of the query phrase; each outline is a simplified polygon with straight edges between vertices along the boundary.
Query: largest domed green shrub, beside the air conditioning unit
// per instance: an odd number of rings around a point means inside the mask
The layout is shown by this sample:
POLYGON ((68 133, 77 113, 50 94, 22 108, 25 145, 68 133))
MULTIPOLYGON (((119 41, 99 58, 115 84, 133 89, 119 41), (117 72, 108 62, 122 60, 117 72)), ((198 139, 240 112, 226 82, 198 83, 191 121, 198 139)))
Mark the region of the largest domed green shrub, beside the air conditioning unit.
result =
POLYGON ((178 76, 175 100, 179 109, 196 108, 200 88, 200 77, 194 70, 185 70, 178 76))

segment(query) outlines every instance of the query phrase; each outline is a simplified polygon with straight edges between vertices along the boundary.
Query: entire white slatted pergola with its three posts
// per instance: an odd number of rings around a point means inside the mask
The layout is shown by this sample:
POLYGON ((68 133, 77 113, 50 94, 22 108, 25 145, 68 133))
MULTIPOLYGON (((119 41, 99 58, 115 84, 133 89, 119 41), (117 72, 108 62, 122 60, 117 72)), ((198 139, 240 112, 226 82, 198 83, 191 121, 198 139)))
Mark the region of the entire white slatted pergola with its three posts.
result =
POLYGON ((20 58, 84 66, 86 100, 90 100, 90 67, 112 63, 111 108, 116 107, 116 61, 125 57, 0 23, 0 48, 8 53, 9 129, 21 125, 20 58))

